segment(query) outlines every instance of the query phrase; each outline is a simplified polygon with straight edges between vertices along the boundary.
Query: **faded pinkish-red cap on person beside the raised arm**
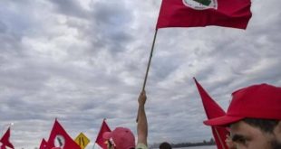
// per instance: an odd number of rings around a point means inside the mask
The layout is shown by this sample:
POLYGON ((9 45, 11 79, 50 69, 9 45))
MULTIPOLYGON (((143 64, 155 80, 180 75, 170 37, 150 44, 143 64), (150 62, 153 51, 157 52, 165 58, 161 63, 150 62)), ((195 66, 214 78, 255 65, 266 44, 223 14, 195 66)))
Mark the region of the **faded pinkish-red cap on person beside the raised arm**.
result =
POLYGON ((135 147, 135 136, 125 127, 116 127, 112 132, 103 133, 106 140, 112 139, 116 149, 130 149, 135 147))

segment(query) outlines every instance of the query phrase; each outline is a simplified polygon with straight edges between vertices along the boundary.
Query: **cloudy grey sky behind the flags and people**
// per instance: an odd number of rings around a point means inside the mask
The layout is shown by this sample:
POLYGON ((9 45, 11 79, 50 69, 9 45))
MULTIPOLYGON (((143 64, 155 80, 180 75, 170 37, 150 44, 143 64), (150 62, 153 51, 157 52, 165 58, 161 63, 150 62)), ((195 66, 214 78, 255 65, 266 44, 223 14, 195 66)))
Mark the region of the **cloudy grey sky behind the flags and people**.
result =
MULTIPOLYGON (((0 0, 0 128, 15 148, 48 138, 57 117, 92 144, 107 118, 136 134, 160 0, 0 0)), ((225 110, 251 84, 281 86, 279 0, 252 1, 247 30, 216 26, 158 32, 146 105, 149 143, 209 140, 196 77, 225 110)))

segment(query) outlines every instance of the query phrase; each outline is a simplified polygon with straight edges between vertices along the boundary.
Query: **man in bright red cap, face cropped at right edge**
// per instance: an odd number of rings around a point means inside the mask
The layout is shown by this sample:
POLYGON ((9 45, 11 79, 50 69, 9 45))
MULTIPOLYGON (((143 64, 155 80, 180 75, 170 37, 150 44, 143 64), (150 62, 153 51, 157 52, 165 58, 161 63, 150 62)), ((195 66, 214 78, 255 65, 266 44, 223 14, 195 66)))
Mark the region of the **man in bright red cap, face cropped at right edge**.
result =
POLYGON ((238 89, 227 114, 204 124, 229 126, 237 149, 281 149, 281 88, 259 84, 238 89))

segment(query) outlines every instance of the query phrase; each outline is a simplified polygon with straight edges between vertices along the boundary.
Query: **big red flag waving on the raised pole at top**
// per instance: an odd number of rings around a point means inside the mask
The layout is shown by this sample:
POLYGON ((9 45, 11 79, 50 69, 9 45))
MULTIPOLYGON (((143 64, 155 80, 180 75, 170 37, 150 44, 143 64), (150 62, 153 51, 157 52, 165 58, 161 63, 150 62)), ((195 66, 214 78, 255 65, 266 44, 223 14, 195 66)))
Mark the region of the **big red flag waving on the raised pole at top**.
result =
POLYGON ((246 29, 250 0, 162 0, 156 28, 218 25, 246 29))

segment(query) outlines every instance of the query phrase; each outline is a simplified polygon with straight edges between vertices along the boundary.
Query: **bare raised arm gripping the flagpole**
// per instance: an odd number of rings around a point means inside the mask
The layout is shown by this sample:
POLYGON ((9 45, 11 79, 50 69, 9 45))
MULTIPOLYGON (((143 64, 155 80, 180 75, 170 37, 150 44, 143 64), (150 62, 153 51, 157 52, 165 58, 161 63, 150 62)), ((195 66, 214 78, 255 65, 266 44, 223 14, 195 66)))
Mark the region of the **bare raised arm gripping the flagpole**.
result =
POLYGON ((145 115, 145 102, 146 102, 146 94, 145 91, 143 90, 140 93, 140 97, 139 97, 139 116, 138 116, 138 126, 137 126, 137 130, 138 130, 138 144, 145 144, 148 145, 147 143, 147 137, 148 137, 148 122, 147 122, 147 118, 145 115))

